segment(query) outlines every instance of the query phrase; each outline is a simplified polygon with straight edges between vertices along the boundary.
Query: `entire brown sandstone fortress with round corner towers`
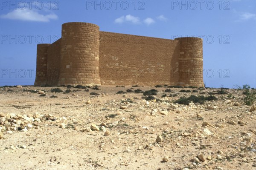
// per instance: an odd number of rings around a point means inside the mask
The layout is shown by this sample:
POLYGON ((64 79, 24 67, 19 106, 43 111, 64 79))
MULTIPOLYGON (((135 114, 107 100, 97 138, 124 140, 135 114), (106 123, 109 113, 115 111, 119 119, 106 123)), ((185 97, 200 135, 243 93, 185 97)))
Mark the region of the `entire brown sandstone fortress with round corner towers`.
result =
POLYGON ((62 25, 61 38, 37 45, 37 86, 171 85, 203 87, 203 40, 99 31, 92 23, 62 25))

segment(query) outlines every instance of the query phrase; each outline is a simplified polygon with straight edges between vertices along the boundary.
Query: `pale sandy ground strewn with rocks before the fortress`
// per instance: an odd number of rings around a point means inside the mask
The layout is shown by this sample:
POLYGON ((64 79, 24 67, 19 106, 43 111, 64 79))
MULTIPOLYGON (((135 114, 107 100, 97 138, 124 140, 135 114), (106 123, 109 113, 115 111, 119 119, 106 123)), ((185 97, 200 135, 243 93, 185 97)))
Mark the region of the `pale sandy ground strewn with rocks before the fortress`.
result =
POLYGON ((243 90, 180 90, 1 87, 0 169, 256 169, 256 107, 243 90))

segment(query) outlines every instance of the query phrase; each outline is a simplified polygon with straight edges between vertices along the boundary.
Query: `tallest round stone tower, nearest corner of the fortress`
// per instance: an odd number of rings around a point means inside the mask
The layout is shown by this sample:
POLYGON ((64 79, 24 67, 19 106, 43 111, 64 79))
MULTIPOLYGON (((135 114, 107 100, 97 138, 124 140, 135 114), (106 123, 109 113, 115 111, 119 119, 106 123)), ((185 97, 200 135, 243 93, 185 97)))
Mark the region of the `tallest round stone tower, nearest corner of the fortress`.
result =
POLYGON ((99 26, 92 23, 64 23, 61 34, 58 85, 101 85, 99 26))

